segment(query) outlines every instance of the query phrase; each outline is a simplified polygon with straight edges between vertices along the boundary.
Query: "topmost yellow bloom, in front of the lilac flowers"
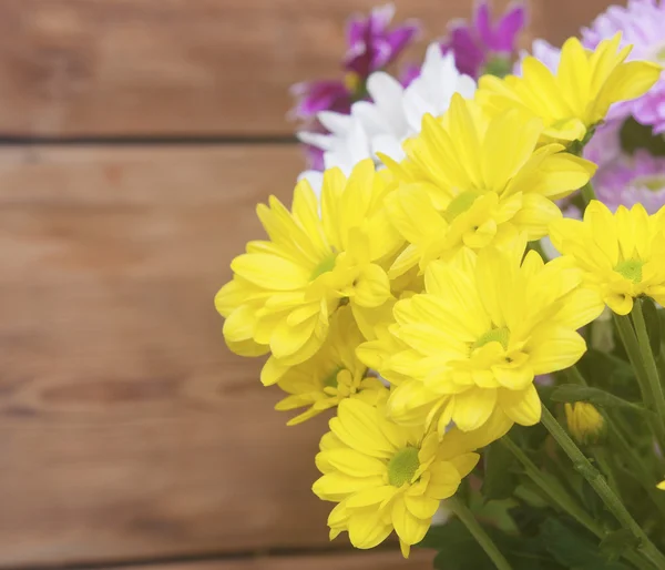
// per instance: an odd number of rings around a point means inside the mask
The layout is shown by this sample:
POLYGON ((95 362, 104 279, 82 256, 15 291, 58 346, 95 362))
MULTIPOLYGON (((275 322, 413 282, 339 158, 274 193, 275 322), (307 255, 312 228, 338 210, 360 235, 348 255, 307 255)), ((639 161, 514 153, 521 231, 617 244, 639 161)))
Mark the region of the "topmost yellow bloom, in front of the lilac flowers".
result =
POLYGON ((540 116, 545 124, 544 142, 582 141, 613 103, 643 95, 661 75, 656 63, 625 63, 633 47, 620 50, 620 42, 617 33, 591 52, 571 38, 561 50, 556 74, 529 57, 522 63, 522 77, 480 78, 477 100, 492 114, 518 106, 540 116))

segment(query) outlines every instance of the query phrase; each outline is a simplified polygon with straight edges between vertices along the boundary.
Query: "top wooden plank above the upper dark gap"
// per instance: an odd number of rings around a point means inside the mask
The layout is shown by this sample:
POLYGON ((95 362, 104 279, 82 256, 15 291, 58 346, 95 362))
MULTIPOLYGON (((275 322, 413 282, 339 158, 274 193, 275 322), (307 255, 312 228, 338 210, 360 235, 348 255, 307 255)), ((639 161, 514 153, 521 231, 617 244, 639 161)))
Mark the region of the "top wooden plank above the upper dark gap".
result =
MULTIPOLYGON (((3 0, 0 134, 290 134, 289 86, 339 77, 346 18, 376 4, 3 0)), ((396 4, 424 22, 418 62, 472 0, 396 4)))

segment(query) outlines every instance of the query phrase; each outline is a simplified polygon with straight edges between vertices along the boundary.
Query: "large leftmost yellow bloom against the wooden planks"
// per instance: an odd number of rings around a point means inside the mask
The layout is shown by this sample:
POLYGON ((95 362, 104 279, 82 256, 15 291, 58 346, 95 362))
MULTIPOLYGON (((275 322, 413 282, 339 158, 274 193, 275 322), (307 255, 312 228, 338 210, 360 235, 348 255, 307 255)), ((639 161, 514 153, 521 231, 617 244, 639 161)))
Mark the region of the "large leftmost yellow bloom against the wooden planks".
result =
POLYGON ((359 163, 347 180, 332 169, 324 175, 323 199, 307 182, 294 192, 291 212, 276 197, 259 204, 269 240, 247 244, 231 268, 233 281, 215 305, 226 317, 224 337, 244 356, 272 352, 262 381, 275 384, 324 344, 330 316, 348 303, 361 322, 391 298, 381 263, 402 241, 383 208, 386 175, 372 161, 359 163))

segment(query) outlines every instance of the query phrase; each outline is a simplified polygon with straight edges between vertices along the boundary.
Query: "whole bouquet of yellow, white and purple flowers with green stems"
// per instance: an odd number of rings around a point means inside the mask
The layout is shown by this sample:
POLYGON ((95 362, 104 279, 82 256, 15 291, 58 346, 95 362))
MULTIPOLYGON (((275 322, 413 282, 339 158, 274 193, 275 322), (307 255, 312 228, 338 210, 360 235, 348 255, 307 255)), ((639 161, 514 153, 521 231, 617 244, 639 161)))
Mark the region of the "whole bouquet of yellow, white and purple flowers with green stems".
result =
POLYGON ((258 205, 216 308, 289 425, 330 416, 331 539, 665 569, 665 1, 531 53, 525 17, 481 1, 397 71, 418 23, 351 19, 344 78, 294 89, 290 208, 258 205))

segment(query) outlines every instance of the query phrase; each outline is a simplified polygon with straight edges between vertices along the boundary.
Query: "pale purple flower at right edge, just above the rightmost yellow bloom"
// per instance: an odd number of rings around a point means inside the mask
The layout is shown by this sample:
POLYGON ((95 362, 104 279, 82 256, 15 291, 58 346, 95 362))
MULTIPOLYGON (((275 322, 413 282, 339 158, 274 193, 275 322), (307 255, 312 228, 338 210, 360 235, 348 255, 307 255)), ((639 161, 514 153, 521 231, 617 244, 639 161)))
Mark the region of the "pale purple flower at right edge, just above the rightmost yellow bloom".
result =
POLYGON ((641 203, 649 214, 665 205, 665 157, 638 150, 598 170, 594 187, 612 211, 641 203))

